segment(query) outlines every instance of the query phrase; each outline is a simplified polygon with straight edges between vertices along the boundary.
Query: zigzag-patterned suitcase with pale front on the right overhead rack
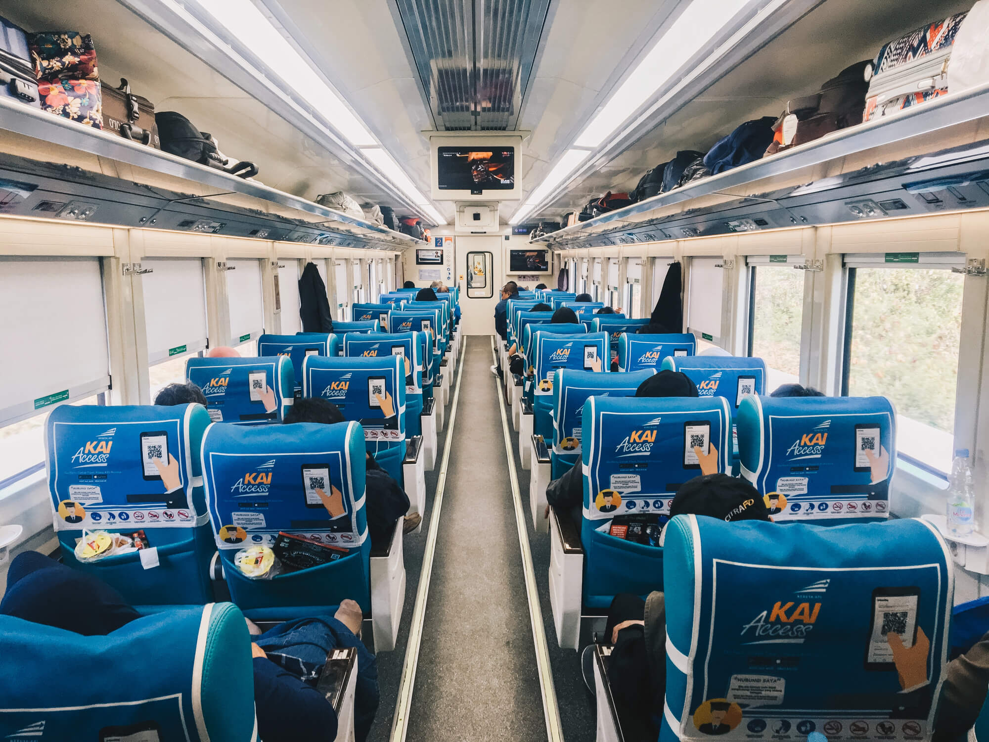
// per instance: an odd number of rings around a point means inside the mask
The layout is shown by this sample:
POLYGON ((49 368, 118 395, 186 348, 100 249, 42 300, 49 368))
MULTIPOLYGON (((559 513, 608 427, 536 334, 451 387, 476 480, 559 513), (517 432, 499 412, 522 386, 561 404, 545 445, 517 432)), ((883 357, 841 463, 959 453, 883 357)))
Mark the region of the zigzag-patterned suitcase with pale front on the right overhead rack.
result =
POLYGON ((948 16, 879 49, 866 71, 862 121, 892 116, 947 93, 947 63, 966 15, 948 16))

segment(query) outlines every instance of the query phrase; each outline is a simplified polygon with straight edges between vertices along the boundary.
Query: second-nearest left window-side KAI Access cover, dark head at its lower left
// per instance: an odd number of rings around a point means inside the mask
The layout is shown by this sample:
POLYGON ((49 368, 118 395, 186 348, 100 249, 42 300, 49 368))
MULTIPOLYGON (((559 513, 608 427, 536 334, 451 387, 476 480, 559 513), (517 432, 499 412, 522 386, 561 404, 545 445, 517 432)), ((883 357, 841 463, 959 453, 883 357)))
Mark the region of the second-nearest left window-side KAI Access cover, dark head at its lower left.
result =
MULTIPOLYGON (((203 390, 214 422, 263 425, 278 422, 292 404, 296 375, 287 355, 257 358, 197 358, 186 361, 186 380, 203 390), (274 392, 268 409, 265 390, 274 392)), ((270 400, 269 400, 270 402, 270 400)))

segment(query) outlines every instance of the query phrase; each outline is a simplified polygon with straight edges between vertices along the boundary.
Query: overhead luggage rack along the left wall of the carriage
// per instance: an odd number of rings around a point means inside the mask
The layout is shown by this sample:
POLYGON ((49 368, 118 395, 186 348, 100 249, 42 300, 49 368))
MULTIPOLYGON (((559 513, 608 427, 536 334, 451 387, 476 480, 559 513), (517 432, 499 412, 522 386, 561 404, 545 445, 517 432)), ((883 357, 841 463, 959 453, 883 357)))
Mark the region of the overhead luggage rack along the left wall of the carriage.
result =
POLYGON ((342 247, 394 250, 423 244, 261 183, 2 99, 0 215, 342 247))

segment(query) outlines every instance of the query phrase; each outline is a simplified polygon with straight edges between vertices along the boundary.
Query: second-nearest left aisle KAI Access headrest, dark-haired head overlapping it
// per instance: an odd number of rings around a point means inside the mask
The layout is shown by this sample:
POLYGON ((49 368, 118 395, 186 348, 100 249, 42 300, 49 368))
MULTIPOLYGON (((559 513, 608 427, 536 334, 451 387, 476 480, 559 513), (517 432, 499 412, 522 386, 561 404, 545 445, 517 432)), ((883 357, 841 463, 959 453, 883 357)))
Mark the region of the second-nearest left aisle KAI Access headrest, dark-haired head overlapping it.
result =
POLYGON ((311 355, 303 363, 303 397, 332 402, 344 418, 361 423, 366 440, 405 440, 405 360, 397 355, 311 355))

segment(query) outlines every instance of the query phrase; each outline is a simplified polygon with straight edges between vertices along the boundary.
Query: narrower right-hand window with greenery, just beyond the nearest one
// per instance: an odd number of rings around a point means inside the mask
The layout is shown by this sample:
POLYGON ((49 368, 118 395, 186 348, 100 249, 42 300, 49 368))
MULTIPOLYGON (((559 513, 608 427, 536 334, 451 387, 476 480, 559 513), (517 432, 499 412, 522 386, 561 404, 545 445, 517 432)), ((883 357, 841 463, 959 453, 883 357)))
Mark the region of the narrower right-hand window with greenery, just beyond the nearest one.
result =
POLYGON ((768 392, 800 380, 804 274, 787 259, 785 255, 749 258, 749 355, 765 361, 768 392))

